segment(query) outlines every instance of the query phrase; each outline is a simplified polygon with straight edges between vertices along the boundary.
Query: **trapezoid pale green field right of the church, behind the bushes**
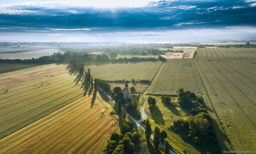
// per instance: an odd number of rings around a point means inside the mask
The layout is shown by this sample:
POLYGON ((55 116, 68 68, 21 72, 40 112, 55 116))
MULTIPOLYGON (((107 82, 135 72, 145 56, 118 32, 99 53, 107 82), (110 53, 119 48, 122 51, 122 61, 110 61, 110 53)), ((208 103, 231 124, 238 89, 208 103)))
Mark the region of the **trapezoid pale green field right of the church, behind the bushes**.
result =
POLYGON ((176 94, 180 87, 198 94, 205 93, 192 60, 173 59, 164 63, 148 89, 148 94, 176 94))

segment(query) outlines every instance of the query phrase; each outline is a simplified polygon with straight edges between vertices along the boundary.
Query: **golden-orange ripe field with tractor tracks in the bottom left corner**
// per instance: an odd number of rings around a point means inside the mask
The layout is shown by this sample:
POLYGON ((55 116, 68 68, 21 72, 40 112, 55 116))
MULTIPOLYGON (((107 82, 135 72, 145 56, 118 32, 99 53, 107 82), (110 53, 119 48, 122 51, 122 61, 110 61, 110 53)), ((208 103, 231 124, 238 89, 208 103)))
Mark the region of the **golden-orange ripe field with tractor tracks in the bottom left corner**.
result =
MULTIPOLYGON (((96 94, 96 93, 95 93, 96 94)), ((0 140, 5 154, 101 153, 118 130, 111 107, 98 95, 84 96, 0 140)))

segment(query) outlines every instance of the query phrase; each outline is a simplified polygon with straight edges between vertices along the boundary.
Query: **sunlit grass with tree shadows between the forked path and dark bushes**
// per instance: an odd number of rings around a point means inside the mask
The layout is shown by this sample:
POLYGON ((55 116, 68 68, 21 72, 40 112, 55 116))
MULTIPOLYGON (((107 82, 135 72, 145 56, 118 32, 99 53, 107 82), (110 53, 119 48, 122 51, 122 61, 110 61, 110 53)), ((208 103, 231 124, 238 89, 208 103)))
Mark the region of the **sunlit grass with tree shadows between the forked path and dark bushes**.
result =
POLYGON ((168 134, 167 140, 169 141, 172 148, 178 153, 182 153, 183 150, 186 150, 187 154, 206 154, 210 152, 208 149, 209 147, 191 145, 184 141, 180 135, 168 130, 169 126, 175 120, 179 118, 185 118, 187 116, 186 111, 177 105, 177 97, 172 97, 172 103, 169 104, 162 103, 160 96, 153 97, 156 98, 157 103, 152 112, 148 109, 148 103, 145 107, 145 111, 149 115, 148 119, 153 130, 156 126, 161 130, 165 130, 168 134))

